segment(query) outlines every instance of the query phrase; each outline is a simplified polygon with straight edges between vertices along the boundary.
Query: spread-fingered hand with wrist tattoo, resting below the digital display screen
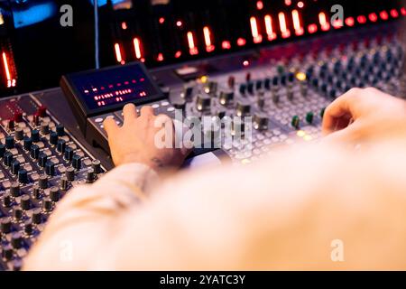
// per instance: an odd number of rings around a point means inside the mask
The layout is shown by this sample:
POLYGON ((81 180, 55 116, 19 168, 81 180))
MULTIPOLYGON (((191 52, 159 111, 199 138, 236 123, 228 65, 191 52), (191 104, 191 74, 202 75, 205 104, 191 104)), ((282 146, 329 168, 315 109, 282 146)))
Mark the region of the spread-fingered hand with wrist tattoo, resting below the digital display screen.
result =
MULTIPOLYGON (((123 109, 124 125, 119 127, 115 120, 104 122, 108 135, 113 162, 116 166, 125 163, 144 163, 157 172, 169 167, 179 168, 189 154, 187 148, 174 148, 174 127, 171 117, 155 117, 152 107, 143 107, 140 117, 135 106, 128 104, 123 109), (156 135, 164 133, 171 137, 169 145, 158 144, 156 135)), ((161 140, 161 139, 160 139, 161 140)))

